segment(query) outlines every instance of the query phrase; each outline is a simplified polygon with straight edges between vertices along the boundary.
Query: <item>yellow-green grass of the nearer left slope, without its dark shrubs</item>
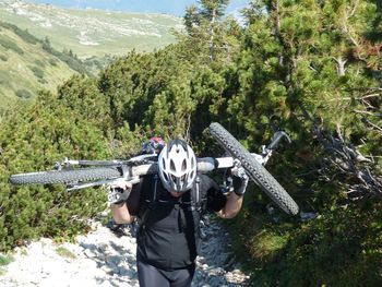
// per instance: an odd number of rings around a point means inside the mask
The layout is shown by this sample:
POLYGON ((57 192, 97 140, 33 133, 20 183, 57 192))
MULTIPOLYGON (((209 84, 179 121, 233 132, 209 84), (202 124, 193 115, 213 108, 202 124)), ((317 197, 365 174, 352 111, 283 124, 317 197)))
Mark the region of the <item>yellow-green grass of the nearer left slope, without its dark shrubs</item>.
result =
POLYGON ((38 89, 53 91, 75 73, 67 63, 45 51, 40 43, 27 43, 11 29, 0 27, 1 40, 13 43, 22 52, 0 44, 0 110, 17 99, 31 100, 38 89), (43 76, 33 72, 36 68, 43 71, 43 76), (23 89, 28 91, 32 97, 17 97, 16 92, 23 89))

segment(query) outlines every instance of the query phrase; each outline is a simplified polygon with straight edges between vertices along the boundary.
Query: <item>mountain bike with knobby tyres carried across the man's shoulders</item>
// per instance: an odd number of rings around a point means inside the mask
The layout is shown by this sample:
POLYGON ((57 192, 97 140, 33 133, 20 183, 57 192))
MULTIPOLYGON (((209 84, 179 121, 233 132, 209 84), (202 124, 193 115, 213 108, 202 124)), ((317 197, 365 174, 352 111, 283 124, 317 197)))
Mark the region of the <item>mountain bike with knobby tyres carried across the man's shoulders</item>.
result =
MULTIPOLYGON (((249 153, 224 127, 217 122, 210 124, 210 133, 229 154, 224 157, 198 158, 198 171, 208 172, 214 169, 227 169, 238 159, 246 172, 259 188, 284 212, 296 215, 298 205, 277 180, 265 169, 282 139, 290 143, 289 136, 282 131, 274 134, 271 144, 263 145, 260 154, 249 153)), ((112 187, 117 181, 126 180, 132 184, 140 181, 140 176, 157 172, 157 154, 134 156, 127 160, 64 160, 57 163, 53 170, 12 175, 12 184, 50 184, 61 183, 67 190, 77 190, 96 186, 112 187)), ((109 192, 112 202, 118 192, 109 192)))

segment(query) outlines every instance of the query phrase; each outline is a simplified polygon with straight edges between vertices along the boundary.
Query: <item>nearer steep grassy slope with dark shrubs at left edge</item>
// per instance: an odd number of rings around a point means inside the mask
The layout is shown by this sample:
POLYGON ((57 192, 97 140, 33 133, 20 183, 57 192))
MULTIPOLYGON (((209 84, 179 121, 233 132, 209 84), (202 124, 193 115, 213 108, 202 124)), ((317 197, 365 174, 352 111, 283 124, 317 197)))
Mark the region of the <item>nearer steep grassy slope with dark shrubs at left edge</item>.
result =
POLYGON ((70 51, 57 51, 49 41, 0 22, 0 115, 16 99, 28 101, 38 89, 56 89, 73 73, 88 70, 70 51))

